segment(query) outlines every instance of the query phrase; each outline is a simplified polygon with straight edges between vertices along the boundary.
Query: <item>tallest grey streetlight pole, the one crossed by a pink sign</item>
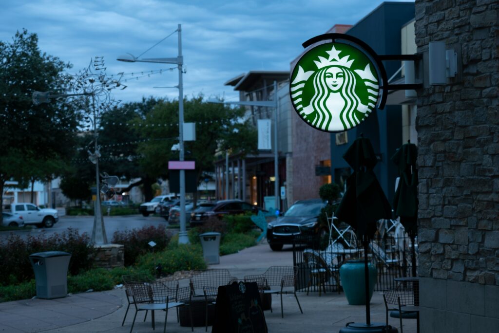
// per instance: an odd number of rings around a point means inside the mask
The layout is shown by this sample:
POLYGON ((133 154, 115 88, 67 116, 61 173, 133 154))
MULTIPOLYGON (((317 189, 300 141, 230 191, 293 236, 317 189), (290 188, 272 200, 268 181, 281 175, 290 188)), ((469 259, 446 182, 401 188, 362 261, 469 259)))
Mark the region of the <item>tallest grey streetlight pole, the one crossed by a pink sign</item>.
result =
MULTIPOLYGON (((176 58, 144 58, 140 59, 130 53, 120 55, 116 60, 123 62, 152 62, 159 64, 177 64, 179 69, 179 85, 175 88, 179 89, 179 160, 184 161, 184 92, 182 83, 182 65, 184 58, 182 56, 182 24, 177 27, 179 54, 176 58)), ((186 187, 185 187, 185 170, 180 170, 180 233, 179 243, 188 244, 189 237, 186 230, 186 187)))

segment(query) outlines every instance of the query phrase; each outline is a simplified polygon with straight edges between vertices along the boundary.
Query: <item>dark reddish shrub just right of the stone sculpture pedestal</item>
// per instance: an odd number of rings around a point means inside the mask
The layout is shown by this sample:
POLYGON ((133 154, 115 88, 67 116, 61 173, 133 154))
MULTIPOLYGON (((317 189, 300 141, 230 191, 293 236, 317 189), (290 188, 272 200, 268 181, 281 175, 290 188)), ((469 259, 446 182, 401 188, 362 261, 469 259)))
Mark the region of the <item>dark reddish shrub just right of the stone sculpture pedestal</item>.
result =
POLYGON ((150 241, 154 241, 156 246, 154 251, 163 251, 170 241, 171 233, 164 225, 159 227, 149 226, 142 229, 116 231, 113 234, 114 244, 125 245, 125 265, 135 264, 140 255, 151 252, 150 241))

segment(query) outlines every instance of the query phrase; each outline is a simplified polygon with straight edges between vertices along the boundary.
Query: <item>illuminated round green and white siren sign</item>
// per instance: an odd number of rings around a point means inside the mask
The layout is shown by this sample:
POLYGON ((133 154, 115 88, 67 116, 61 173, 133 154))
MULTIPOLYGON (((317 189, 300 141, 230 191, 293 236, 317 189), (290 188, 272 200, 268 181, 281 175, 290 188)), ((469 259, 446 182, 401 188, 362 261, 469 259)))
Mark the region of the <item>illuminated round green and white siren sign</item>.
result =
POLYGON ((359 125, 378 100, 374 68, 363 52, 348 44, 327 43, 310 49, 291 73, 294 109, 321 131, 342 132, 359 125))

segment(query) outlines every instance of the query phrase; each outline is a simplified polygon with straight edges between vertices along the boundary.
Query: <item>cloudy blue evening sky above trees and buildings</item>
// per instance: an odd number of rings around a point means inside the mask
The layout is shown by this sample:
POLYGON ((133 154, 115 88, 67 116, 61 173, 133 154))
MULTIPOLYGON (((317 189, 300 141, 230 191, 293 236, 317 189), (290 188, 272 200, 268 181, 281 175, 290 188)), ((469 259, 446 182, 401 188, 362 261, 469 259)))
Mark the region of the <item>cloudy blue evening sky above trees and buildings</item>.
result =
MULTIPOLYGON (((301 43, 334 24, 355 24, 381 0, 2 0, 0 40, 22 28, 38 34, 42 51, 74 65, 72 73, 104 56, 108 74, 134 73, 115 98, 178 97, 177 70, 167 64, 124 63, 120 54, 138 56, 182 24, 184 93, 237 100, 224 82, 250 70, 289 70, 301 43), (143 72, 143 73, 142 73, 143 72), (136 79, 137 76, 144 76, 136 79)), ((173 34, 143 57, 175 57, 173 34)))

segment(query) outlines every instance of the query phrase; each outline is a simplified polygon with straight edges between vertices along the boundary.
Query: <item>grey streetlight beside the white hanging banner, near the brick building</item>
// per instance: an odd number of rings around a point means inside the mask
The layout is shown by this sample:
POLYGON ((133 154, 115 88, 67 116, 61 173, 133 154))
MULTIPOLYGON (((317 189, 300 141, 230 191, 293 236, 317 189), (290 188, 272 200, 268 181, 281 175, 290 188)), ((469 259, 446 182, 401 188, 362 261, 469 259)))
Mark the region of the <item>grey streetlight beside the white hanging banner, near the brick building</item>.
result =
MULTIPOLYGON (((280 192, 279 192, 279 154, 277 152, 277 117, 279 114, 279 101, 277 99, 277 81, 274 81, 274 100, 273 101, 240 101, 240 102, 223 102, 218 100, 208 100, 209 103, 233 104, 244 106, 259 106, 274 108, 274 193, 275 193, 275 209, 280 210, 280 192)), ((228 164, 228 162, 226 162, 228 164)), ((229 181, 227 180, 227 184, 229 181)))

